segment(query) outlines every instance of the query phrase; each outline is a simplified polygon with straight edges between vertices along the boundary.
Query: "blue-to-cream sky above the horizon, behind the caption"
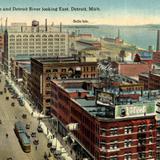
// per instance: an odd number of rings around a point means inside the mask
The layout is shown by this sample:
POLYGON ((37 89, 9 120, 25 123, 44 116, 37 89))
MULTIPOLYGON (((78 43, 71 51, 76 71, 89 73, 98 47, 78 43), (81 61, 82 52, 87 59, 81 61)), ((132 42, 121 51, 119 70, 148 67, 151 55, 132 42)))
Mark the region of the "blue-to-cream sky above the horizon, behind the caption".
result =
POLYGON ((4 24, 8 17, 8 23, 26 22, 38 20, 44 24, 108 24, 108 25, 143 25, 160 24, 159 0, 0 0, 0 17, 4 24), (13 8, 24 9, 15 11, 13 8), (29 7, 39 9, 30 11, 29 7), (67 11, 59 9, 68 8, 67 11), (89 11, 89 7, 96 10, 89 11), (6 8, 8 10, 6 10, 6 8), (43 8, 57 8, 57 11, 43 11, 43 8), (75 11, 71 8, 86 8, 86 11, 75 11), (26 10, 27 9, 27 10, 26 10))

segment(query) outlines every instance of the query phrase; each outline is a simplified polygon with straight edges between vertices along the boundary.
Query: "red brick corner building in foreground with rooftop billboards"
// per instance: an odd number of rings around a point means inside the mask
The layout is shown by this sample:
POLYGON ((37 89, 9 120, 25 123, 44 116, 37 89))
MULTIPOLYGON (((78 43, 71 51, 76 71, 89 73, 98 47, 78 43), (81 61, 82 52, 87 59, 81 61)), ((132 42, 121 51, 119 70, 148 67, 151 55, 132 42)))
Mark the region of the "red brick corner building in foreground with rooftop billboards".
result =
POLYGON ((51 82, 52 113, 79 159, 156 159, 154 97, 146 93, 141 101, 123 103, 116 92, 96 94, 92 87, 67 83, 51 82))

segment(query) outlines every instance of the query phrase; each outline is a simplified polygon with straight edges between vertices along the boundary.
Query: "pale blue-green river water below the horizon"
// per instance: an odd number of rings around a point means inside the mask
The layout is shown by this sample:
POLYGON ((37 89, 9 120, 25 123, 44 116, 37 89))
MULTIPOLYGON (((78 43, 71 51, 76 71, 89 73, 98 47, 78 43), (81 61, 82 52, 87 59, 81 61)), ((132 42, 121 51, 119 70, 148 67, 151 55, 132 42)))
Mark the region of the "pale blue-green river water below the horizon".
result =
POLYGON ((136 45, 139 48, 147 49, 149 45, 156 49, 156 33, 157 26, 109 26, 99 25, 96 27, 64 27, 65 30, 70 33, 76 31, 77 33, 92 33, 97 38, 99 37, 111 37, 115 38, 120 29, 121 38, 132 45, 136 45))

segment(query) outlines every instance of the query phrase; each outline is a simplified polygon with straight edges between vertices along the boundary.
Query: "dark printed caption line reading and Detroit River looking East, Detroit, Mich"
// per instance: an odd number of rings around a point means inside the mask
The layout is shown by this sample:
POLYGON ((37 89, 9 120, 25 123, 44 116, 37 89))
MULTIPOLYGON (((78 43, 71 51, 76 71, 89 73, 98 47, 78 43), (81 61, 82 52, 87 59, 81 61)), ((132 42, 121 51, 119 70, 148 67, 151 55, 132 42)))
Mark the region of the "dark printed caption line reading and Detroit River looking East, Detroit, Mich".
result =
POLYGON ((100 11, 99 7, 4 7, 0 11, 100 11))

